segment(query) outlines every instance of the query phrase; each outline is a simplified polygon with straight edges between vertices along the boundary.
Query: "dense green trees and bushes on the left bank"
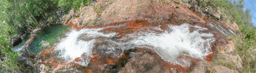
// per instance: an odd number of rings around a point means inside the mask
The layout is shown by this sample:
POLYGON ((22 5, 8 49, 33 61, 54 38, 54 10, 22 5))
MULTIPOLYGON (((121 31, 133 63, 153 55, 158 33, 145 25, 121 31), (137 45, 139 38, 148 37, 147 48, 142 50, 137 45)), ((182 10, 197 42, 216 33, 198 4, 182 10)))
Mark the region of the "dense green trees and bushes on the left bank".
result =
POLYGON ((55 17, 58 7, 66 11, 90 4, 93 0, 2 0, 0 1, 0 71, 18 71, 18 52, 9 44, 14 35, 26 34, 29 27, 41 28, 55 17))

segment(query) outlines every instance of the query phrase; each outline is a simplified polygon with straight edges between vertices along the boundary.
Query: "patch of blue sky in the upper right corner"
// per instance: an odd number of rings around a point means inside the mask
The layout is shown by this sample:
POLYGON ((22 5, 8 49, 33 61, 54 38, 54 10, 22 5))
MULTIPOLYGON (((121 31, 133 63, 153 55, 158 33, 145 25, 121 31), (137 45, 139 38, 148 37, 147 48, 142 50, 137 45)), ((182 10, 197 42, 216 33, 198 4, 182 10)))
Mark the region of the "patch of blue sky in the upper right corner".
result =
POLYGON ((250 9, 250 14, 252 15, 252 23, 256 26, 256 0, 244 0, 245 9, 250 9))

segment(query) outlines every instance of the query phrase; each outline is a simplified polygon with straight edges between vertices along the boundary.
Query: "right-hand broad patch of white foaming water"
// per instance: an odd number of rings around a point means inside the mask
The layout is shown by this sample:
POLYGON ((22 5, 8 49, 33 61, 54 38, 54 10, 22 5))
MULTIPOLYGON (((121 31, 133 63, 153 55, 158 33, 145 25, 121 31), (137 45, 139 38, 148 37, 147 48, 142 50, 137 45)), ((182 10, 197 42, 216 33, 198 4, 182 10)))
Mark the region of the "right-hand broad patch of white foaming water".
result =
POLYGON ((169 27, 172 29, 171 32, 147 33, 145 36, 137 36, 130 43, 137 47, 153 46, 153 49, 162 59, 183 67, 190 66, 190 64, 187 63, 188 60, 178 58, 182 54, 202 60, 212 53, 210 52, 210 44, 214 41, 213 34, 200 32, 201 30, 207 30, 206 28, 190 26, 189 24, 169 27), (190 27, 194 27, 196 30, 190 32, 190 27))

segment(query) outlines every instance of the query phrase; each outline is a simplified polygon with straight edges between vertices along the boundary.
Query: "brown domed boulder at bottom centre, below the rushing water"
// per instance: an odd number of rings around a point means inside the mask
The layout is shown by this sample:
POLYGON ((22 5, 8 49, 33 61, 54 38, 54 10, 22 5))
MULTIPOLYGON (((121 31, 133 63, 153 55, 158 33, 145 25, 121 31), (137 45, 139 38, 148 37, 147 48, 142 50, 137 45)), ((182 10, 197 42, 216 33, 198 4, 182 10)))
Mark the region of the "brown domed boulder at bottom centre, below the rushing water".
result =
POLYGON ((154 57, 150 54, 144 54, 140 57, 130 58, 124 68, 118 73, 170 73, 165 66, 160 66, 154 57))

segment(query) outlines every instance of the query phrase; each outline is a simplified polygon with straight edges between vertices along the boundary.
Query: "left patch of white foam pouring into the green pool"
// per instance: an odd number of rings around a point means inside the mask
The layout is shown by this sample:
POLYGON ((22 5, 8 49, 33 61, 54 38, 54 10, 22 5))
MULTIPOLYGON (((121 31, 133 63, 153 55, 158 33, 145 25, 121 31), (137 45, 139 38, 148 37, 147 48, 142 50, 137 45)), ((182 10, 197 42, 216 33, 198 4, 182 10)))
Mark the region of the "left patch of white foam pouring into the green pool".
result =
MULTIPOLYGON (((81 29, 77 31, 76 29, 71 30, 70 33, 66 34, 66 37, 60 40, 60 43, 57 44, 55 47, 55 50, 59 52, 59 56, 65 58, 66 61, 71 62, 75 60, 76 57, 80 57, 82 54, 85 54, 86 56, 91 55, 93 43, 95 42, 95 39, 84 41, 81 39, 78 39, 79 36, 83 33, 86 33, 88 36, 86 37, 98 37, 98 36, 113 36, 112 34, 103 34, 97 32, 99 29, 81 29)), ((86 62, 82 63, 82 66, 87 66, 89 63, 89 59, 85 59, 86 62)), ((79 64, 81 64, 79 63, 79 64)))

